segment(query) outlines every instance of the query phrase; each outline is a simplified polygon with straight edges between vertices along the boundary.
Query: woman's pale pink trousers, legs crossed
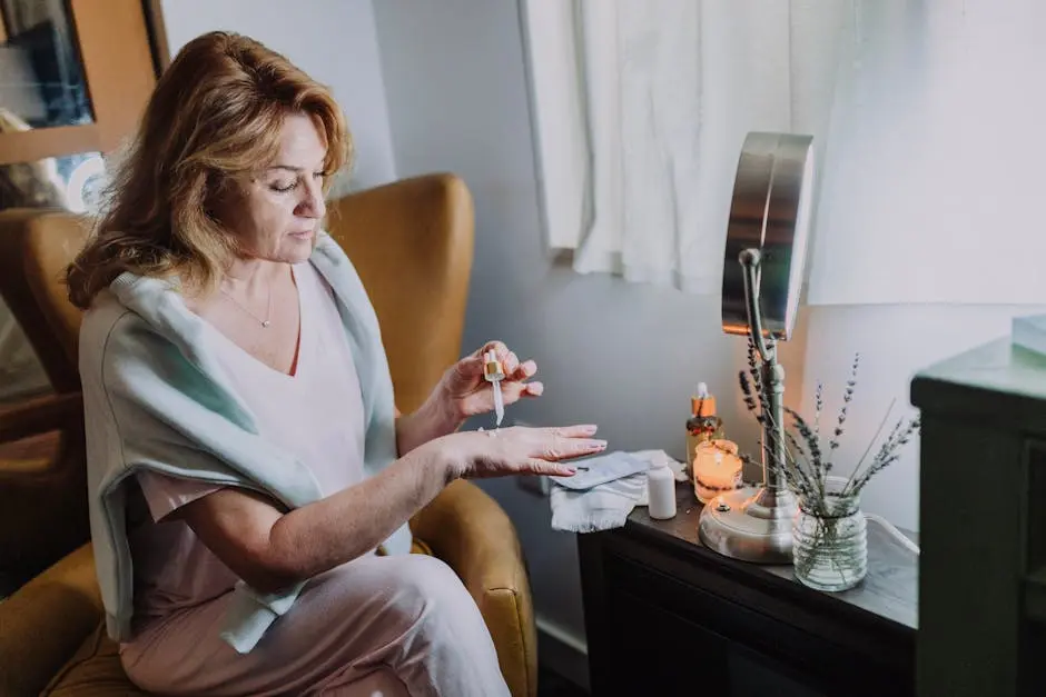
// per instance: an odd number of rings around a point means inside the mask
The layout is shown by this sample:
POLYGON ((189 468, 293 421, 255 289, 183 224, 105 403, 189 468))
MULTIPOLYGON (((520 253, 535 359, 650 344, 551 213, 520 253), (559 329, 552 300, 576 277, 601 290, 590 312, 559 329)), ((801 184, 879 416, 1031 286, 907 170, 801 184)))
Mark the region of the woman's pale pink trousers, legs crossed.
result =
POLYGON ((229 595, 149 627, 121 653, 164 695, 441 695, 509 688, 480 610, 444 562, 366 556, 310 580, 249 654, 218 631, 229 595))

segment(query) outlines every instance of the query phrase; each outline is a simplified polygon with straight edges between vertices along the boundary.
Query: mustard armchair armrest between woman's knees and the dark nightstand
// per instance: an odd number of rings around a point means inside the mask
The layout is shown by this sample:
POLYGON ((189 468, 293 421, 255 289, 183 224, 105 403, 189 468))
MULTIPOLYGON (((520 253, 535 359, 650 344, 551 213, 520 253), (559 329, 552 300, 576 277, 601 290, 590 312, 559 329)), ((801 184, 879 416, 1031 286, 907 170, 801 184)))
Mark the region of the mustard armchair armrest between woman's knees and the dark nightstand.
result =
POLYGON ((537 691, 537 636, 515 527, 497 502, 455 481, 411 520, 414 536, 462 579, 494 639, 514 697, 537 691))

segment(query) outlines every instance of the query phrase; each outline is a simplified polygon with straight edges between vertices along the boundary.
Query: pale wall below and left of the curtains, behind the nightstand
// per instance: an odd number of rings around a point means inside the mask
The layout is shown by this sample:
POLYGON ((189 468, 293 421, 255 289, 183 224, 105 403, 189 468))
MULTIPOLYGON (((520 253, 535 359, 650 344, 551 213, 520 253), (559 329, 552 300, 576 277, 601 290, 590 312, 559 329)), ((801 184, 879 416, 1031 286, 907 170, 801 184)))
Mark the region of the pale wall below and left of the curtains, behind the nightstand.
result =
MULTIPOLYGON (((682 457, 689 395, 705 380, 730 435, 751 447, 756 431, 736 387, 743 341, 720 331, 717 298, 582 277, 547 257, 516 2, 382 0, 375 16, 397 172, 454 171, 475 197, 466 347, 497 337, 539 361, 545 396, 510 416, 549 425, 591 420, 613 448, 663 448, 682 457)), ((852 354, 862 354, 838 458, 846 467, 860 457, 891 399, 898 416, 910 409, 908 381, 917 369, 1007 333, 1013 313, 1033 310, 805 308, 784 351, 787 397, 812 399, 823 380, 833 416, 852 354)), ((918 527, 917 458, 910 448, 869 486, 869 511, 918 527)), ((551 531, 547 502, 513 481, 484 486, 517 526, 540 618, 583 636, 573 536, 551 531)))

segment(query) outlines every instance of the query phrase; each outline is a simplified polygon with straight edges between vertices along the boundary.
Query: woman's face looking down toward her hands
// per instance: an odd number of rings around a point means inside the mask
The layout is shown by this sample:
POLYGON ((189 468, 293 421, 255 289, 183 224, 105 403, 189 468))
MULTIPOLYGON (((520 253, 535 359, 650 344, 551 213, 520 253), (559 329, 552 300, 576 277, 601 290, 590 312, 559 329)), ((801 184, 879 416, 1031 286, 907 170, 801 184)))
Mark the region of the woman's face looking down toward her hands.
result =
POLYGON ((327 147, 313 119, 284 119, 276 159, 250 178, 221 210, 245 258, 297 263, 313 251, 323 201, 327 147))

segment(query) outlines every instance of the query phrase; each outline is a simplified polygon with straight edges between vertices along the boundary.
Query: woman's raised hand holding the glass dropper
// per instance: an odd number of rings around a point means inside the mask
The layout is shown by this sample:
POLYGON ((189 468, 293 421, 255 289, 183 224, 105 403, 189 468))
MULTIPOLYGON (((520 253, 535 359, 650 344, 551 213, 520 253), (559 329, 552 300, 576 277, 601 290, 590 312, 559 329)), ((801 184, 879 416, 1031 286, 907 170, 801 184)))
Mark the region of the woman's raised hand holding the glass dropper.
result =
POLYGON ((501 341, 487 341, 477 351, 452 366, 443 375, 437 388, 445 414, 458 422, 494 410, 493 387, 483 377, 483 357, 487 351, 494 351, 505 374, 501 381, 505 406, 523 397, 540 397, 544 391, 541 382, 527 381, 537 374, 537 364, 533 360, 520 362, 519 357, 501 341))

